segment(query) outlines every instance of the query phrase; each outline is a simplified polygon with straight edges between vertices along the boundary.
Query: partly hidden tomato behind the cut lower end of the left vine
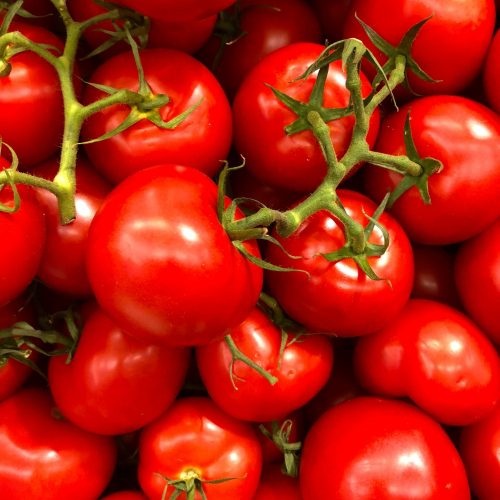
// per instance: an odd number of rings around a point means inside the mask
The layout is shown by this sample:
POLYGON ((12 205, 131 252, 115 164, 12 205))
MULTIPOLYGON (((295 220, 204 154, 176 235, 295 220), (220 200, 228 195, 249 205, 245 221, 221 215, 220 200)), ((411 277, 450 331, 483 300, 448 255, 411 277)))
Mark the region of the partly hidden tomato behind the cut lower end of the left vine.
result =
MULTIPOLYGON (((35 167, 31 173, 53 179, 59 168, 57 159, 35 167)), ((45 212, 47 236, 38 268, 38 277, 50 288, 74 296, 92 293, 85 269, 85 250, 90 223, 111 185, 85 159, 76 165, 76 219, 62 225, 57 198, 46 189, 36 190, 45 212)))

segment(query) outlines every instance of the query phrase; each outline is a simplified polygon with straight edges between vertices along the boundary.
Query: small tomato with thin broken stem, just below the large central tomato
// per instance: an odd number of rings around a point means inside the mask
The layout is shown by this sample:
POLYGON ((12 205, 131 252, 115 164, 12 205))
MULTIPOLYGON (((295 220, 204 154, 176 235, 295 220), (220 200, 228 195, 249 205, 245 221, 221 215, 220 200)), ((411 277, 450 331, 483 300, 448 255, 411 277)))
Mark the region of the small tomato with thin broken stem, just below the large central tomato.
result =
POLYGON ((197 347, 196 360, 208 394, 240 420, 282 419, 307 403, 330 375, 330 339, 290 335, 280 359, 281 330, 260 309, 254 309, 229 334, 241 352, 278 379, 271 385, 244 362, 231 363, 232 354, 224 339, 197 347))

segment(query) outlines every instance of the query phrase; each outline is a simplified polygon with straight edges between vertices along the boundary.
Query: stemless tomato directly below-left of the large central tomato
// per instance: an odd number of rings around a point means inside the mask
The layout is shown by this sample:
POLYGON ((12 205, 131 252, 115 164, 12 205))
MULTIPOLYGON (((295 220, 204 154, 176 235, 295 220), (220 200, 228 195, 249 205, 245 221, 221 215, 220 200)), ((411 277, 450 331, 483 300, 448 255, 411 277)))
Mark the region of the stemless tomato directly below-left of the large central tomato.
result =
POLYGON ((148 424, 181 390, 189 350, 140 342, 101 310, 87 319, 70 363, 49 362, 49 386, 61 413, 96 434, 126 434, 148 424))

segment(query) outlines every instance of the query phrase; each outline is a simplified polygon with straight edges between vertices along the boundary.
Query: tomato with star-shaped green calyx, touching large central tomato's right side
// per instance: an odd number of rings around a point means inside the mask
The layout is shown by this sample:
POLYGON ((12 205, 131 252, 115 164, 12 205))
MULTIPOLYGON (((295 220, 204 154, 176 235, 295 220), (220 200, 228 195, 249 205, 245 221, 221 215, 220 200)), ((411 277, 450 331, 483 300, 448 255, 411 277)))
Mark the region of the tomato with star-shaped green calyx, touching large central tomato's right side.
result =
MULTIPOLYGON (((375 204, 366 196, 338 190, 350 217, 364 226, 364 215, 373 214, 375 204)), ((327 211, 306 219, 288 238, 278 238, 288 257, 278 246, 269 245, 267 258, 281 267, 307 271, 266 271, 266 281, 287 314, 311 332, 339 337, 366 335, 387 325, 401 310, 413 283, 413 257, 408 238, 400 225, 387 213, 379 222, 389 232, 389 246, 382 257, 368 261, 381 280, 370 279, 353 259, 329 262, 323 255, 345 244, 343 226, 327 211)), ((369 238, 382 244, 383 236, 375 228, 369 238)))

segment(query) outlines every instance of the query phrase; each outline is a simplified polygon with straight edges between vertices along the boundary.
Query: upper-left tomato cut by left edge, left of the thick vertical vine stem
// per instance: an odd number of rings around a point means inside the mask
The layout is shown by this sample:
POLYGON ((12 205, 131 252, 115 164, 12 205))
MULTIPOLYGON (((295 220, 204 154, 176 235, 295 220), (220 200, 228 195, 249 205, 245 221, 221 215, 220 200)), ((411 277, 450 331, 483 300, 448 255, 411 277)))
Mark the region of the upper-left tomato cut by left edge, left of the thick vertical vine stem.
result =
MULTIPOLYGON (((45 28, 14 22, 9 31, 20 31, 30 40, 62 52, 62 41, 45 28)), ((18 155, 20 167, 27 168, 60 147, 62 94, 55 69, 34 52, 15 54, 9 63, 10 73, 0 77, 0 136, 18 155)))

